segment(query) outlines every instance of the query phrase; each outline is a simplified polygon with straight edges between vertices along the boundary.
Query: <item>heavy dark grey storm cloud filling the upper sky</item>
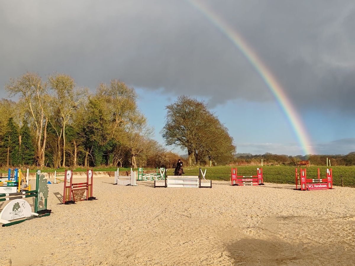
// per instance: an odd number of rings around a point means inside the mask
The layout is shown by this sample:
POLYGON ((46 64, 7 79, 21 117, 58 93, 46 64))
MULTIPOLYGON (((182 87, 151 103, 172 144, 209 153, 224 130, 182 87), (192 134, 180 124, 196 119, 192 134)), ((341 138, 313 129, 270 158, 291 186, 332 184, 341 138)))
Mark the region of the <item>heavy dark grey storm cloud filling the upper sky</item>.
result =
MULTIPOLYGON (((206 1, 300 107, 355 109, 353 1, 206 1)), ((94 90, 135 87, 213 98, 272 96, 241 52, 187 1, 1 1, 0 84, 26 70, 94 90)), ((4 93, 0 96, 5 96, 4 93)))

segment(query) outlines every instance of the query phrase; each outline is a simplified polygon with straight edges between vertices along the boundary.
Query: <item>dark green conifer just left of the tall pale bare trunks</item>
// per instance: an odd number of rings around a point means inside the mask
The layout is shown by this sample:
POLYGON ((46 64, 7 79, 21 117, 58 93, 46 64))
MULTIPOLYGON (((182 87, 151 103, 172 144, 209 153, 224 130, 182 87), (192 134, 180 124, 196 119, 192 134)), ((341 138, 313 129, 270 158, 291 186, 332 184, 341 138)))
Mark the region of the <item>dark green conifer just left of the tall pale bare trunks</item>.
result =
POLYGON ((32 136, 29 127, 26 123, 20 129, 21 135, 21 164, 22 165, 33 165, 34 160, 34 146, 32 143, 32 136))

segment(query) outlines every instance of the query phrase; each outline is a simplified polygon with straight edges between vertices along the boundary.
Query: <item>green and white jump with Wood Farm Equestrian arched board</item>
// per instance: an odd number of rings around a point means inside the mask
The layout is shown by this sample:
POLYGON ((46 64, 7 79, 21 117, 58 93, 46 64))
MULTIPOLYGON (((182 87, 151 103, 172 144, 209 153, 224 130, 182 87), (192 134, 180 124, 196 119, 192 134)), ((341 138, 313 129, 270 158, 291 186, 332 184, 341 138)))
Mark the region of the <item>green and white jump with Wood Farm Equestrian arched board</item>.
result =
POLYGON ((1 201, 10 201, 0 212, 0 223, 2 226, 15 225, 17 223, 31 220, 33 217, 49 216, 51 210, 47 210, 48 186, 47 179, 40 171, 36 175, 36 189, 16 193, 0 194, 1 201), (11 197, 11 198, 10 198, 11 197), (24 198, 34 197, 34 212, 24 198), (22 220, 17 220, 25 218, 22 220), (10 222, 11 220, 17 220, 10 222))

